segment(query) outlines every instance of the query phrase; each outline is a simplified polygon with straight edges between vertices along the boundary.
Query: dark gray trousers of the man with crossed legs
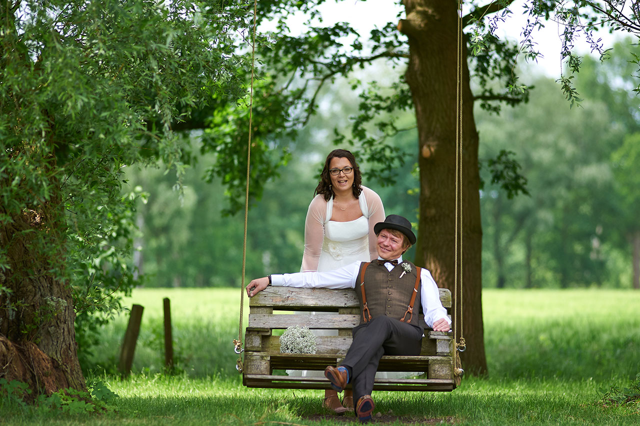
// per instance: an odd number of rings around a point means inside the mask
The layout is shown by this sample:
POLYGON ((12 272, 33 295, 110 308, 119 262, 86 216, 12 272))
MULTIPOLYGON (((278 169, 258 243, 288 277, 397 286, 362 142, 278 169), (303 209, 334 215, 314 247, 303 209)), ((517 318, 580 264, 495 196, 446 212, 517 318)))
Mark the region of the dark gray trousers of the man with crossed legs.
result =
POLYGON ((353 343, 341 365, 351 368, 353 401, 371 395, 378 363, 383 355, 419 355, 422 329, 380 316, 353 329, 353 343))

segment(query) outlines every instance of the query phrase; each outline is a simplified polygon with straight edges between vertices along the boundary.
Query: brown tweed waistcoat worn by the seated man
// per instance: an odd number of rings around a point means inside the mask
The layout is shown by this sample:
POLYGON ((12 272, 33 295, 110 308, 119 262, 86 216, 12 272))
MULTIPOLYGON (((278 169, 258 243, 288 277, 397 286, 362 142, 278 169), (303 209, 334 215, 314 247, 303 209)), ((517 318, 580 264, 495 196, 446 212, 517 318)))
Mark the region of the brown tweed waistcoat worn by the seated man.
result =
MULTIPOLYGON (((364 324, 364 318, 362 317, 363 303, 362 291, 360 291, 360 274, 365 263, 362 262, 360 264, 355 285, 356 296, 360 302, 361 325, 364 324)), ((406 272, 402 278, 400 278, 404 272, 402 264, 396 265, 391 271, 387 271, 385 265, 378 265, 376 262, 371 262, 367 267, 364 273, 364 289, 367 297, 367 307, 372 319, 380 315, 387 315, 387 317, 399 320, 404 316, 411 301, 413 287, 415 287, 417 267, 408 260, 403 260, 402 263, 411 265, 411 272, 406 272)), ((418 294, 413 304, 413 317, 410 324, 414 326, 418 326, 418 319, 420 313, 422 313, 422 304, 420 304, 421 287, 422 283, 418 287, 418 294)), ((406 315, 406 320, 409 320, 409 315, 406 315)))

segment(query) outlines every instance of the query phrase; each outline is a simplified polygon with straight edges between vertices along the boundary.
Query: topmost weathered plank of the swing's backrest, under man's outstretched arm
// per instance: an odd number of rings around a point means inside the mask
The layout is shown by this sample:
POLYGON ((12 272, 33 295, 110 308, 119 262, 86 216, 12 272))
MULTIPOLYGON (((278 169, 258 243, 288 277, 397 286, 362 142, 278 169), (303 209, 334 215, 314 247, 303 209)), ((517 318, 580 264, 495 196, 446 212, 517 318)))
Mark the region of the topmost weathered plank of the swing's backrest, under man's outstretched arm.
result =
MULTIPOLYGON (((439 288, 440 301, 451 308, 451 291, 439 288)), ((358 308, 358 299, 353 288, 268 287, 249 299, 249 306, 273 306, 279 310, 323 311, 337 308, 358 308)))

